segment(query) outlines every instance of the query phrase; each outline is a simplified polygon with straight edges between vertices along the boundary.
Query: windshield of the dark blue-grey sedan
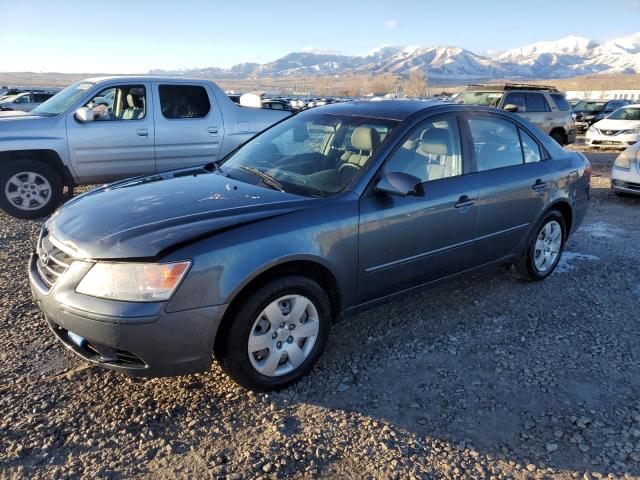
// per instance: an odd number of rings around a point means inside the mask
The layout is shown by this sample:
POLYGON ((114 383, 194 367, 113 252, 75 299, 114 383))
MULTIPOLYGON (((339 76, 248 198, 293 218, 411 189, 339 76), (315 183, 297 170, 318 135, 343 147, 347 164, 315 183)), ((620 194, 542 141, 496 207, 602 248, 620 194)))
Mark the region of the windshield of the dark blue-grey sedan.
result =
POLYGON ((296 115, 240 147, 218 171, 296 195, 335 195, 366 166, 396 124, 377 118, 296 115))

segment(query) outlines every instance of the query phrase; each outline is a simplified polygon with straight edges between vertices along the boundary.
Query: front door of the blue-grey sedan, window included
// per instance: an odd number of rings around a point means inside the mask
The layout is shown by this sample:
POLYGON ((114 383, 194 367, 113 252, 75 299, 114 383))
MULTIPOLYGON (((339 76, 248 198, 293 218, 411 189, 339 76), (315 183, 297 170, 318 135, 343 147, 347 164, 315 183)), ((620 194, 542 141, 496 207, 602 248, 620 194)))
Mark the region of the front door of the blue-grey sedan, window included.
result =
POLYGON ((372 192, 360 201, 361 303, 473 265, 477 185, 468 165, 455 115, 420 123, 389 156, 381 175, 414 175, 423 194, 372 192))

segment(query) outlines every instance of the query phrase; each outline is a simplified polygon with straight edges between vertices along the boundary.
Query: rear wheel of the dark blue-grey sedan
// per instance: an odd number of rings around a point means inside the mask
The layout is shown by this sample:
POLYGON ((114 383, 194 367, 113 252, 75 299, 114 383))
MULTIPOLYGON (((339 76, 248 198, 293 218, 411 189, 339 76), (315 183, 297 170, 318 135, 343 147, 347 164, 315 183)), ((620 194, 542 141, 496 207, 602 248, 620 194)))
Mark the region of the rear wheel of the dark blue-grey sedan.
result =
POLYGON ((551 275, 562 257, 566 231, 562 214, 557 210, 547 212, 514 264, 518 276, 523 280, 536 282, 551 275))

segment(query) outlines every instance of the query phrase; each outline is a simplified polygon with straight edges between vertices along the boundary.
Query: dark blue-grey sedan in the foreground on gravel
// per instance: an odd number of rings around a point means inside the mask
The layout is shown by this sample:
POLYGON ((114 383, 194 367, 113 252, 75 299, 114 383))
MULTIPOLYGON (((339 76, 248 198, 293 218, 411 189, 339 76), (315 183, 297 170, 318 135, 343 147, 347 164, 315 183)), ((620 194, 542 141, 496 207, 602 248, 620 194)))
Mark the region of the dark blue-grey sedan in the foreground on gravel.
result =
POLYGON ((489 266, 548 277, 590 174, 509 112, 327 105, 220 162, 67 202, 29 279, 53 333, 90 362, 182 375, 215 353, 238 383, 272 390, 309 372, 349 313, 489 266))

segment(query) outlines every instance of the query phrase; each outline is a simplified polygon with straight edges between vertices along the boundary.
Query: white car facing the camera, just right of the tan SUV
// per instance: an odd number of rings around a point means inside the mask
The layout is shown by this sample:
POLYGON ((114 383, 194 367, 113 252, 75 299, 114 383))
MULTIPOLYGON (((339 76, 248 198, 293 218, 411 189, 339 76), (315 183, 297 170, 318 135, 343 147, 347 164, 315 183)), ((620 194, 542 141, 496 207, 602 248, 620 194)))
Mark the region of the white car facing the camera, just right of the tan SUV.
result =
POLYGON ((627 148, 640 140, 640 105, 619 108, 587 130, 586 143, 591 147, 627 148))

